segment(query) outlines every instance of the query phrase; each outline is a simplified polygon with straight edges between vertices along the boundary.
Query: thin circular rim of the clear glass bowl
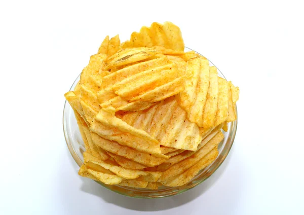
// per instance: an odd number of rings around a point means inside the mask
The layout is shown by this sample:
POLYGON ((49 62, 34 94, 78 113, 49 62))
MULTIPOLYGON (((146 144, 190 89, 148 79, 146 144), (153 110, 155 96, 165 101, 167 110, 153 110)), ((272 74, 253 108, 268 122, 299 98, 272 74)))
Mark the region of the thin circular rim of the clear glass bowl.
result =
MULTIPOLYGON (((190 50, 190 51, 195 51, 195 50, 193 50, 193 49, 191 49, 191 48, 188 48, 188 47, 185 47, 185 49, 188 49, 188 50, 190 50)), ((188 51, 188 50, 187 50, 187 51, 188 51)), ((200 53, 197 52, 197 51, 195 51, 195 52, 198 53, 198 54, 200 54, 200 53)), ((201 56, 204 56, 204 55, 202 55, 202 54, 200 54, 200 55, 201 55, 201 56)), ((207 58, 207 59, 208 59, 208 58, 207 58)), ((208 59, 208 61, 209 61, 211 64, 213 64, 209 59, 208 59)), ((213 64, 213 65, 214 65, 214 64, 213 64)), ((214 66, 215 66, 215 65, 214 65, 214 66)), ((216 67, 216 66, 215 66, 215 67, 216 67)), ((218 69, 218 67, 216 67, 216 68, 217 68, 217 70, 219 71, 219 73, 222 75, 222 77, 224 77, 224 79, 226 80, 225 76, 221 73, 221 71, 218 69)), ((74 80, 74 82, 73 82, 73 84, 71 85, 69 91, 72 90, 72 88, 73 88, 75 82, 78 81, 78 79, 79 79, 80 76, 81 76, 81 74, 79 74, 79 76, 74 80)), ((77 155, 77 152, 75 152, 75 150, 74 150, 74 148, 72 147, 72 145, 68 144, 69 140, 68 140, 68 135, 67 135, 66 123, 65 123, 65 120, 64 120, 64 119, 65 119, 65 109, 66 109, 66 105, 67 105, 67 100, 65 99, 64 108, 63 108, 63 116, 62 116, 63 134, 64 134, 64 138, 65 138, 65 143, 66 143, 66 146, 67 146, 67 148, 68 148, 68 150, 69 150, 71 156, 73 157, 74 161, 75 161, 75 162, 78 164, 78 166, 80 167, 80 166, 83 164, 83 161, 79 158, 79 156, 77 155)), ((236 105, 236 112, 237 112, 237 116, 238 116, 237 105, 236 105)), ((98 184, 100 184, 101 186, 103 186, 104 188, 106 188, 106 189, 108 189, 108 190, 110 190, 110 191, 116 192, 116 193, 121 194, 121 195, 124 195, 124 196, 132 197, 132 198, 140 198, 140 199, 165 198, 165 197, 169 197, 169 196, 175 196, 175 195, 184 193, 184 192, 186 192, 186 191, 188 191, 188 190, 191 190, 191 189, 195 188, 196 186, 202 184, 202 183, 203 183, 204 181, 206 181, 212 174, 214 174, 214 172, 221 166, 221 164, 225 161, 226 157, 229 155, 229 153, 230 153, 230 151, 231 151, 231 149, 232 149, 232 146, 233 146, 233 144, 234 144, 234 140, 235 140, 235 136, 236 136, 236 132, 237 132, 238 117, 237 117, 237 119, 236 119, 234 122, 232 122, 232 123, 233 123, 233 124, 232 124, 232 135, 231 135, 232 137, 231 137, 231 140, 229 141, 229 142, 230 142, 230 146, 229 146, 229 148, 226 149, 224 156, 222 156, 220 162, 217 163, 217 165, 212 169, 212 171, 211 171, 210 174, 208 174, 206 177, 204 177, 203 180, 197 182, 196 184, 193 184, 191 187, 182 188, 182 189, 178 190, 177 192, 174 192, 174 191, 173 191, 172 193, 169 193, 169 194, 167 194, 167 195, 163 195, 163 196, 153 196, 153 197, 151 197, 151 196, 135 196, 135 195, 128 195, 128 193, 126 193, 126 192, 120 192, 120 191, 118 191, 118 190, 116 190, 116 189, 111 189, 112 186, 116 186, 116 187, 123 187, 123 186, 118 186, 118 185, 105 185, 105 184, 103 184, 103 183, 101 183, 101 182, 97 182, 97 181, 95 181, 95 182, 98 183, 98 184)), ((220 154, 219 154, 219 155, 220 155, 220 154)), ((219 155, 217 156, 217 158, 216 158, 210 165, 208 165, 207 167, 205 167, 204 169, 202 169, 202 170, 200 170, 200 171, 209 170, 210 167, 212 167, 213 164, 215 163, 215 161, 219 158, 219 155)), ((199 175, 199 174, 200 174, 200 173, 198 173, 197 175, 199 175)), ((196 175, 196 176, 197 176, 197 175, 196 175)), ((196 176, 195 176, 195 177, 196 177, 196 176)), ((195 178, 195 177, 194 177, 194 178, 195 178)), ((194 179, 194 178, 193 178, 193 179, 194 179)), ((192 179, 192 180, 193 180, 193 179, 192 179)), ((192 181, 192 180, 191 180, 191 181, 192 181)), ((182 186, 181 186, 181 187, 182 187, 182 186)), ((124 189, 130 189, 130 188, 126 188, 126 187, 123 187, 123 188, 124 188, 124 189)), ((176 187, 176 188, 178 188, 178 187, 176 187)), ((132 189, 130 189, 130 190, 132 190, 132 189)), ((157 192, 157 190, 152 190, 151 192, 157 192)))

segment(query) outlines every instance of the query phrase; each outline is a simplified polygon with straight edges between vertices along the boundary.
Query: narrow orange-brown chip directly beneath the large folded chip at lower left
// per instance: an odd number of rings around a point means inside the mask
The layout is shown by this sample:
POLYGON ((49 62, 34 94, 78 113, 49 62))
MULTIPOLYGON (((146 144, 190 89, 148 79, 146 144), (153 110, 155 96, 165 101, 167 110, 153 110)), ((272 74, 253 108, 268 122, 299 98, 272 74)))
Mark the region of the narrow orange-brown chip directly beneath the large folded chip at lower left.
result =
POLYGON ((139 152, 130 147, 119 145, 118 142, 104 139, 96 133, 92 133, 92 139, 97 146, 101 147, 107 152, 128 158, 146 166, 153 167, 167 160, 165 158, 159 158, 148 153, 139 152))

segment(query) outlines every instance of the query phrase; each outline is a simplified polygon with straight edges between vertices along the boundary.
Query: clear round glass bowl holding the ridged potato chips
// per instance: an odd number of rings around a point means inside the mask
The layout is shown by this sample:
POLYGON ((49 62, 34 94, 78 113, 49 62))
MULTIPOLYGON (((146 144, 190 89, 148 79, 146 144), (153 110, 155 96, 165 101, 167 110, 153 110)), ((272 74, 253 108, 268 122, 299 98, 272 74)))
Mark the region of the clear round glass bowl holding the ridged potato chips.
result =
MULTIPOLYGON (((192 49, 185 48, 185 51, 191 51, 191 50, 192 49)), ((210 61, 209 64, 211 66, 214 65, 210 61)), ((218 76, 225 78, 218 68, 217 70, 218 70, 218 76)), ((76 86, 79 80, 80 80, 80 75, 74 81, 70 90, 74 89, 74 87, 76 86)), ((181 187, 161 186, 159 187, 158 190, 148 190, 141 188, 123 187, 118 185, 105 185, 100 182, 97 183, 111 191, 135 198, 162 198, 162 197, 168 197, 168 196, 173 196, 183 193, 204 182, 222 164, 222 162, 227 157, 233 145, 233 141, 235 139, 235 135, 237 131, 237 124, 238 124, 237 120, 228 123, 227 132, 222 131, 224 134, 224 139, 218 145, 219 154, 217 158, 208 167, 202 169, 190 182, 188 182, 187 184, 181 187)), ((64 109, 63 109, 63 131, 64 131, 64 137, 67 148, 69 149, 75 162, 79 166, 81 166, 84 161, 83 152, 85 151, 85 146, 78 128, 77 121, 74 116, 74 112, 67 101, 65 101, 64 109)))

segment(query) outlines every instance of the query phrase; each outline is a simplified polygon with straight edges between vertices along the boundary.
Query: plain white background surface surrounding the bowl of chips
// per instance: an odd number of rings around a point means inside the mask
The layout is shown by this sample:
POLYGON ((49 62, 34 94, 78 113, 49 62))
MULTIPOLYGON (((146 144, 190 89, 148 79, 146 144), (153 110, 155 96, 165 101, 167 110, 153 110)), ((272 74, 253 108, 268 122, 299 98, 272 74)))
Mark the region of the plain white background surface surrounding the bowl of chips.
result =
POLYGON ((0 214, 304 214, 302 1, 1 1, 0 214), (109 34, 172 21, 240 87, 233 149, 203 184, 132 199, 81 178, 63 94, 109 34))

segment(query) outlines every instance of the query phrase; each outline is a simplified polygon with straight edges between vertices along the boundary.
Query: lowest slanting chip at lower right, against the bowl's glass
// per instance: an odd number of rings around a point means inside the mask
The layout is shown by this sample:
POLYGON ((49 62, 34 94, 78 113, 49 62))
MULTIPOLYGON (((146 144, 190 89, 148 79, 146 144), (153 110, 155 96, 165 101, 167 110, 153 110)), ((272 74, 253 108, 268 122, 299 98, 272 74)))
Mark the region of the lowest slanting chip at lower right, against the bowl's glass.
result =
POLYGON ((198 174, 201 169, 204 169, 205 167, 209 166, 216 159, 217 155, 218 151, 216 148, 214 148, 194 166, 184 171, 177 177, 173 178, 170 182, 165 182, 162 184, 168 187, 177 187, 188 183, 192 180, 192 178, 195 177, 195 175, 198 174))

